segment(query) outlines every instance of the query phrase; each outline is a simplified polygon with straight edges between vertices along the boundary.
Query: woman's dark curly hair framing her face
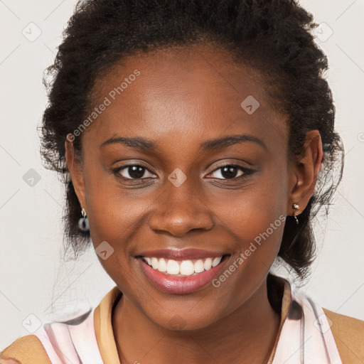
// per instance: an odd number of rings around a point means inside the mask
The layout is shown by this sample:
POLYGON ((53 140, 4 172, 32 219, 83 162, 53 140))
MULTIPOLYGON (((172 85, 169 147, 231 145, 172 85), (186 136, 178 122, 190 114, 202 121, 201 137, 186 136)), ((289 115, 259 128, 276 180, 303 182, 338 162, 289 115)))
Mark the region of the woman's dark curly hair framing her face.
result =
MULTIPOLYGON (((90 232, 77 225, 81 207, 64 144, 87 115, 97 80, 127 55, 208 44, 228 50, 233 61, 264 75, 272 105, 289 119, 290 159, 303 151, 307 132, 318 129, 321 134, 323 171, 299 224, 287 217, 278 255, 299 278, 306 277, 316 255, 313 219, 323 206, 328 214, 344 158, 324 77, 327 58, 312 35, 316 26, 294 0, 78 1, 55 62, 43 78, 49 102, 41 125, 41 155, 45 168, 57 171, 65 183, 65 250, 72 246, 77 257, 90 243, 90 232)), ((79 152, 81 138, 73 144, 79 152)))

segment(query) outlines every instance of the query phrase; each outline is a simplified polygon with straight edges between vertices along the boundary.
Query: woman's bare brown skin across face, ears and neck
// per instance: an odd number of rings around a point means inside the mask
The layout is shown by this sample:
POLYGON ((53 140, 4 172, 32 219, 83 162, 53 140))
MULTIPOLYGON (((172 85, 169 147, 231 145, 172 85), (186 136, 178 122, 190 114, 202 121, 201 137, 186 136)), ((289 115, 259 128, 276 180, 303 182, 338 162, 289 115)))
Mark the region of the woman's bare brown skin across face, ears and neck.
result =
POLYGON ((209 284, 191 294, 159 291, 134 256, 198 247, 229 253, 228 269, 280 215, 293 215, 292 203, 304 210, 322 159, 320 134, 307 133, 304 152, 289 159, 287 117, 273 109, 262 75, 202 45, 129 56, 97 82, 94 107, 135 69, 141 75, 82 133, 82 154, 65 141, 94 247, 106 240, 114 249, 99 259, 123 292, 112 314, 120 361, 265 363, 279 328, 280 316, 267 299, 267 274, 283 223, 220 287, 209 284), (248 95, 260 104, 253 114, 240 107, 248 95), (235 134, 252 135, 266 148, 252 141, 200 148, 207 139, 235 134), (157 147, 100 147, 115 136, 144 137, 157 147), (112 173, 129 164, 150 172, 134 180, 130 168, 112 173), (221 169, 231 164, 238 166, 235 178, 221 169), (253 173, 239 180, 245 173, 239 167, 253 173), (179 187, 168 181, 176 168, 187 177, 179 187))

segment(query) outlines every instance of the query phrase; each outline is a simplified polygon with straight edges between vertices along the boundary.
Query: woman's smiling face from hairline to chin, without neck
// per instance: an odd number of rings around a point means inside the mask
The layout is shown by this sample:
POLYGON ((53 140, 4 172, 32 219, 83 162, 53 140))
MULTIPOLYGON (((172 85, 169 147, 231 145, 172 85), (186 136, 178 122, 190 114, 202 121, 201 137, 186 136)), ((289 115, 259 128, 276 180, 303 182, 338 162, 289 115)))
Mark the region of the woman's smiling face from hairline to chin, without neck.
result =
POLYGON ((165 328, 205 327, 252 300, 277 257, 296 182, 286 119, 256 71, 211 48, 159 50, 114 66, 95 91, 83 169, 72 174, 107 274, 165 328), (122 169, 130 165, 139 167, 122 169), (182 260, 171 250, 190 249, 200 250, 185 257, 192 269, 224 258, 213 274, 178 276, 188 284, 141 258, 168 263, 182 260))

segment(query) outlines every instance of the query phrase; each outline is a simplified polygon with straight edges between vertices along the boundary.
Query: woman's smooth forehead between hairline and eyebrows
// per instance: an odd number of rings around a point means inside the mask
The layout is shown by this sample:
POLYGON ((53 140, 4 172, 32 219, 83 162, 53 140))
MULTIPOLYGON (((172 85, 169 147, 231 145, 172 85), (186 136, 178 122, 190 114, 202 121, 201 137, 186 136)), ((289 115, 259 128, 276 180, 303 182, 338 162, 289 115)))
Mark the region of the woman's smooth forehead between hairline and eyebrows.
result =
POLYGON ((264 90, 264 75, 224 50, 193 45, 137 53, 95 83, 92 108, 105 97, 109 105, 90 136, 93 142, 114 134, 167 141, 173 134, 191 141, 247 132, 282 144, 284 115, 274 111, 264 90))

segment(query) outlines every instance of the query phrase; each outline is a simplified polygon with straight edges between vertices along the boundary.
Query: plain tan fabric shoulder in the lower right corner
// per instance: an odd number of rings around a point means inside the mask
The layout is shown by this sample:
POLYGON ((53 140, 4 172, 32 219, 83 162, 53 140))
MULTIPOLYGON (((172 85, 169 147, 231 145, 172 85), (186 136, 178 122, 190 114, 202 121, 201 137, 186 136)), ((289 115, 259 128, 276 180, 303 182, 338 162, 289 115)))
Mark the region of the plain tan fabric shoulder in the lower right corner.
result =
POLYGON ((364 361, 364 321, 323 308, 343 364, 364 361))

